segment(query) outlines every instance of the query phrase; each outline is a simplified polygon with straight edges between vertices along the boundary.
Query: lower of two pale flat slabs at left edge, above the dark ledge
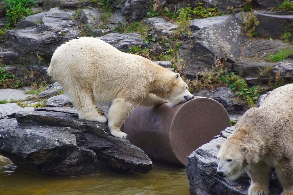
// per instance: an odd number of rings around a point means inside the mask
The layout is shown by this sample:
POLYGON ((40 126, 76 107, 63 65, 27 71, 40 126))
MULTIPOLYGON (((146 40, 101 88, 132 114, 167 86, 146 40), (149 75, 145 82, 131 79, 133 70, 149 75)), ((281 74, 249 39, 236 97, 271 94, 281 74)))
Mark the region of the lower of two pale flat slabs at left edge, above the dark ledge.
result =
POLYGON ((21 108, 16 103, 0 104, 0 119, 5 116, 14 116, 16 112, 34 111, 34 109, 32 107, 21 108))

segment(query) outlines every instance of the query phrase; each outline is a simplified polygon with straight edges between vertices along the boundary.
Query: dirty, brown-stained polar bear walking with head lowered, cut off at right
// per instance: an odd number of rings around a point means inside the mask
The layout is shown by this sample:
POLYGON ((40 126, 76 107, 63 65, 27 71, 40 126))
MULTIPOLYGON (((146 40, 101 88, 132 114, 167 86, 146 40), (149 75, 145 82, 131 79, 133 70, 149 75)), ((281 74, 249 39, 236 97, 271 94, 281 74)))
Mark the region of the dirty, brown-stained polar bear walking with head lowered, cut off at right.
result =
POLYGON ((251 108, 219 149, 217 174, 228 180, 247 171, 249 195, 268 195, 271 168, 293 195, 293 84, 273 90, 259 108, 251 108))

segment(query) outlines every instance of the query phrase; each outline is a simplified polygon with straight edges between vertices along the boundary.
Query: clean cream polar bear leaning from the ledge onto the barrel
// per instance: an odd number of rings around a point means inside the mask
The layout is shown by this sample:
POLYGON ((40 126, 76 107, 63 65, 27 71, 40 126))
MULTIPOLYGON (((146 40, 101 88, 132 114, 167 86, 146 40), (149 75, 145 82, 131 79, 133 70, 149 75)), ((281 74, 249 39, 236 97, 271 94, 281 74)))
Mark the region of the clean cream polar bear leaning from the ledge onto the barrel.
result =
POLYGON ((120 138, 127 137, 120 127, 137 104, 177 104, 194 97, 179 73, 93 37, 72 39, 59 46, 47 72, 64 88, 80 119, 106 122, 94 103, 113 101, 108 127, 120 138))

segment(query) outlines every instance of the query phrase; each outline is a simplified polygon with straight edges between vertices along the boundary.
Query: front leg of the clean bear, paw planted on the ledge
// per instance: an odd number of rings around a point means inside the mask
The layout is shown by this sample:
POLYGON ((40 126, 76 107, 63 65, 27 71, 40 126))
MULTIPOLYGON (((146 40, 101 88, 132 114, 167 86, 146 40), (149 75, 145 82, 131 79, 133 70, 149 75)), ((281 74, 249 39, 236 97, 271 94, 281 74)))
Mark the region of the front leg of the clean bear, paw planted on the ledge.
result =
POLYGON ((122 98, 116 98, 109 109, 108 113, 108 126, 110 132, 115 137, 127 138, 127 134, 120 131, 121 125, 123 124, 125 118, 130 115, 133 111, 135 103, 131 101, 126 101, 122 98))

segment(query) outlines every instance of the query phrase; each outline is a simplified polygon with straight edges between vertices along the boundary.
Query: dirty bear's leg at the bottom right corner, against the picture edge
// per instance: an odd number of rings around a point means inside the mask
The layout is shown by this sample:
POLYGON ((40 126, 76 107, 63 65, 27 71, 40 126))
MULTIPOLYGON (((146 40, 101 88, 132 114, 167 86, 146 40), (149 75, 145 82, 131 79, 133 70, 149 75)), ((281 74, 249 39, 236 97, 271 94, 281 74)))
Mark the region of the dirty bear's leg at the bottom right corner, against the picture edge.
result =
POLYGON ((283 186, 281 195, 293 195, 293 159, 289 162, 287 159, 280 161, 276 165, 275 172, 283 186))

